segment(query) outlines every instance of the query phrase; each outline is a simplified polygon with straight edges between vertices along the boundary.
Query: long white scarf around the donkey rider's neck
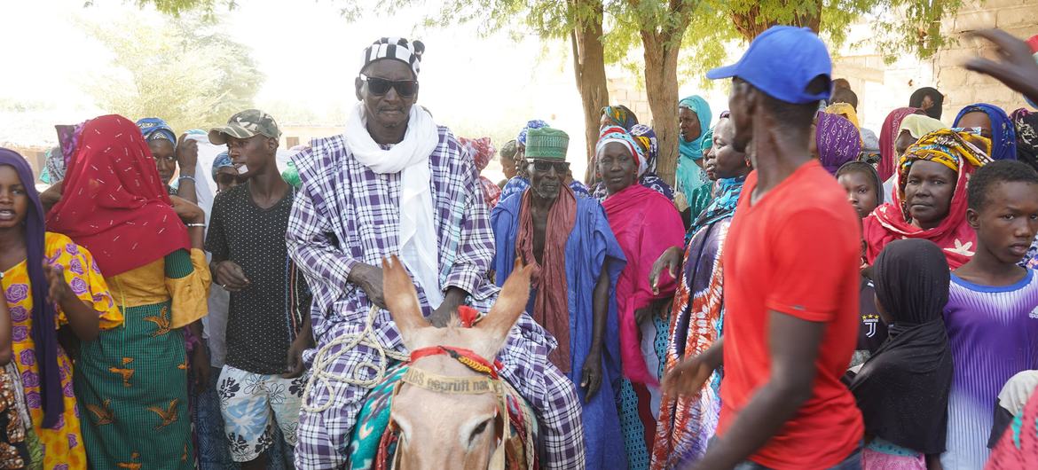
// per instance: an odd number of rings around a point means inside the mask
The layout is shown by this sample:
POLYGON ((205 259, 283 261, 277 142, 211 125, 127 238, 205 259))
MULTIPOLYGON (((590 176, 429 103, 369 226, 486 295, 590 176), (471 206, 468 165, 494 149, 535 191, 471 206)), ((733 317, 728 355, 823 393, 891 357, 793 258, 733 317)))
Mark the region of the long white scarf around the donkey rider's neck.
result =
POLYGON ((404 140, 388 150, 372 139, 364 122, 364 105, 357 103, 346 123, 346 143, 350 153, 372 171, 401 174, 400 257, 411 275, 421 284, 433 309, 443 303, 440 288, 439 251, 436 223, 433 219, 432 173, 429 156, 439 145, 440 136, 433 116, 412 105, 404 140))

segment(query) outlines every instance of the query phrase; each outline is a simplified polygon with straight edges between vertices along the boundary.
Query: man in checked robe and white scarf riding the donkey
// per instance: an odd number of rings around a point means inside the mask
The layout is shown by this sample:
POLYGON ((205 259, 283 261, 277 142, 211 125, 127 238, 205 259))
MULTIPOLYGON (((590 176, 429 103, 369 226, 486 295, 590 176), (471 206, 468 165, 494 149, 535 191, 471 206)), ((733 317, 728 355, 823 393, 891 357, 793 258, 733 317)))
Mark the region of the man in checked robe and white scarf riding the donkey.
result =
MULTIPOLYGON (((286 234, 289 252, 313 291, 318 350, 304 393, 296 467, 331 469, 349 440, 368 389, 406 357, 385 310, 382 259, 399 254, 421 313, 445 326, 459 306, 488 312, 498 288, 479 174, 455 136, 414 106, 425 46, 380 38, 364 50, 355 80, 360 103, 343 135, 317 139, 296 157, 302 187, 286 234)), ((522 314, 497 356, 500 374, 537 412, 545 468, 583 468, 580 404, 552 365, 554 339, 522 314)), ((488 358, 493 359, 493 358, 488 358)))

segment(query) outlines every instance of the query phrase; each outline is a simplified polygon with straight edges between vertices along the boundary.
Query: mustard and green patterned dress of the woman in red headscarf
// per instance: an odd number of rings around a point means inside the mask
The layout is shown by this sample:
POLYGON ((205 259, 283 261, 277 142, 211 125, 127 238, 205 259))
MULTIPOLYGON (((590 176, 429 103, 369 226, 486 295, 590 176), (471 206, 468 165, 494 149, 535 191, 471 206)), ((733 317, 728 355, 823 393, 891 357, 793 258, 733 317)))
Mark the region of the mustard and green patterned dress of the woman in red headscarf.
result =
POLYGON ((76 396, 90 468, 192 469, 184 328, 208 312, 201 250, 106 278, 126 321, 84 341, 76 396))

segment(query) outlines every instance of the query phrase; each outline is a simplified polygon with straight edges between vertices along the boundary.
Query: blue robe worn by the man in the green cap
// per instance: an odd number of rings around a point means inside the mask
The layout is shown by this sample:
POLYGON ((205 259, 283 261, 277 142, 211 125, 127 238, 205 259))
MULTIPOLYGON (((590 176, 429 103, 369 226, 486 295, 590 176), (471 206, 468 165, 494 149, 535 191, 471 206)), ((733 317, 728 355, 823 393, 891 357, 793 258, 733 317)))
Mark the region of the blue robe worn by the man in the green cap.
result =
MULTIPOLYGON (((516 239, 519 236, 517 197, 502 199, 490 215, 494 229, 495 254, 493 266, 498 285, 504 283, 515 262, 516 239)), ((584 442, 589 469, 626 469, 627 454, 618 414, 620 380, 620 330, 617 320, 617 278, 627 264, 624 252, 609 228, 602 205, 595 199, 577 197, 576 224, 566 241, 566 283, 569 287, 570 359, 572 367, 566 375, 576 385, 582 405, 584 442), (602 347, 602 386, 591 402, 585 400, 580 387, 583 362, 591 349, 594 330, 592 298, 602 266, 608 259, 609 315, 606 319, 602 347)), ((530 298, 532 305, 532 296, 530 298)))

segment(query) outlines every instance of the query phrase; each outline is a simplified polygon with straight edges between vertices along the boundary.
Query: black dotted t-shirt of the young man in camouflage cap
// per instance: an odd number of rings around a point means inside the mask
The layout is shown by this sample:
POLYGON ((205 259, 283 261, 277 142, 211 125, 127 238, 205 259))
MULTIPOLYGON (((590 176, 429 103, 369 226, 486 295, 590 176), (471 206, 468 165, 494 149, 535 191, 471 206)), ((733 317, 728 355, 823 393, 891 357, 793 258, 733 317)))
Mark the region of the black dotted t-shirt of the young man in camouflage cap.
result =
POLYGON ((301 275, 290 274, 298 270, 291 266, 284 242, 295 190, 270 209, 261 209, 252 201, 249 185, 216 196, 206 250, 214 259, 237 262, 250 281, 244 291, 230 294, 226 363, 253 374, 283 374, 300 315, 309 314, 309 291, 301 275), (290 289, 290 276, 291 285, 304 287, 290 289))

